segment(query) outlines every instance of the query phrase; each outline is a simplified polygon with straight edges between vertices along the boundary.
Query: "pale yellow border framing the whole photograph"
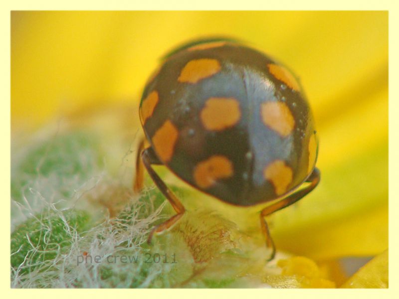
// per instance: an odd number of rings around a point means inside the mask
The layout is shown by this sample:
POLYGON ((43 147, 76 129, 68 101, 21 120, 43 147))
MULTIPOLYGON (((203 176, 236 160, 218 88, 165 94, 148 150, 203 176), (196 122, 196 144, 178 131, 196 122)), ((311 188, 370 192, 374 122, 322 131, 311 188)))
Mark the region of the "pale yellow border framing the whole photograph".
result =
MULTIPOLYGON (((397 1, 399 2, 399 1, 397 1)), ((2 223, 1 233, 2 238, 6 240, 1 247, 1 295, 4 298, 16 298, 23 297, 24 299, 29 298, 67 298, 70 296, 79 296, 82 298, 169 298, 169 297, 190 297, 190 299, 203 299, 211 297, 225 296, 226 298, 399 298, 398 285, 399 285, 399 263, 398 263, 398 197, 399 194, 399 172, 398 172, 398 160, 399 160, 399 142, 398 142, 398 131, 399 128, 399 109, 398 109, 398 29, 399 28, 399 11, 398 5, 395 5, 394 0, 378 0, 378 1, 350 1, 350 0, 335 0, 330 2, 316 1, 316 0, 244 0, 244 1, 231 1, 231 0, 201 0, 201 1, 187 1, 187 0, 151 0, 140 1, 140 3, 134 3, 133 0, 126 1, 82 1, 82 0, 69 0, 69 1, 50 1, 50 0, 14 0, 9 3, 3 3, 1 10, 1 36, 3 43, 1 47, 2 54, 2 71, 3 80, 2 91, 4 93, 4 99, 1 101, 1 130, 2 137, 4 138, 4 144, 0 147, 1 149, 1 165, 2 165, 2 177, 1 177, 1 190, 3 208, 2 210, 2 223), (390 289, 389 290, 12 290, 9 287, 10 274, 9 274, 9 224, 10 224, 10 206, 9 206, 9 192, 10 192, 10 180, 9 180, 9 157, 10 157, 10 92, 9 92, 9 49, 10 49, 10 10, 195 10, 195 9, 211 9, 211 10, 283 10, 283 9, 328 9, 328 10, 389 10, 389 28, 390 28, 390 101, 389 101, 389 122, 390 122, 390 289), (7 86, 8 88, 4 88, 7 86), (73 295, 70 293, 73 292, 73 295), (221 294, 222 292, 222 294, 221 294), (395 294, 397 294, 395 296, 395 294)), ((372 186, 370 186, 372 187, 372 186)))

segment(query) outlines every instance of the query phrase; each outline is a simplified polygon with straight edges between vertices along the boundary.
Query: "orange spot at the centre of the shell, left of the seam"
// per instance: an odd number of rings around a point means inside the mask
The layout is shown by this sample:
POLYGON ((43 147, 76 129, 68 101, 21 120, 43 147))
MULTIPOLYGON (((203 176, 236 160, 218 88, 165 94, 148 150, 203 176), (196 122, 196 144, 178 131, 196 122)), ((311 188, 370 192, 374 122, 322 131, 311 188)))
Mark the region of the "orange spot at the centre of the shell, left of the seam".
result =
POLYGON ((220 131, 232 127, 241 117, 239 102, 234 98, 209 98, 200 117, 207 130, 220 131))

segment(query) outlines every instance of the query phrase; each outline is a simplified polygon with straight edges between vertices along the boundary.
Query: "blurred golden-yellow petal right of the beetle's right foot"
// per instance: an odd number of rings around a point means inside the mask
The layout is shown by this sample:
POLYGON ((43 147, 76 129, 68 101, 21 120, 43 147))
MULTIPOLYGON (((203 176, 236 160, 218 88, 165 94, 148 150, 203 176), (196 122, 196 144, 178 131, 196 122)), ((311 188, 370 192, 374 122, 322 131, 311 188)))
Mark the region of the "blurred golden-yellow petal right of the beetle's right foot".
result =
POLYGON ((375 255, 388 247, 388 207, 275 236, 277 248, 317 260, 375 255))

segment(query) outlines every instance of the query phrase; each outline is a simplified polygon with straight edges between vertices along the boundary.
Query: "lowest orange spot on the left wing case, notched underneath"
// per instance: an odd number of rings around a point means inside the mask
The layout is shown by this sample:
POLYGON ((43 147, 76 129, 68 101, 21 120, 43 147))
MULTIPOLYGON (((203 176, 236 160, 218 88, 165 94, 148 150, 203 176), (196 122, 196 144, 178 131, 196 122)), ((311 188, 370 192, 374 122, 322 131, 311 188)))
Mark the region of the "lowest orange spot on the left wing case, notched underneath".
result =
POLYGON ((233 164, 222 155, 213 155, 199 162, 194 168, 194 179, 200 188, 211 187, 217 179, 227 178, 233 174, 233 164))

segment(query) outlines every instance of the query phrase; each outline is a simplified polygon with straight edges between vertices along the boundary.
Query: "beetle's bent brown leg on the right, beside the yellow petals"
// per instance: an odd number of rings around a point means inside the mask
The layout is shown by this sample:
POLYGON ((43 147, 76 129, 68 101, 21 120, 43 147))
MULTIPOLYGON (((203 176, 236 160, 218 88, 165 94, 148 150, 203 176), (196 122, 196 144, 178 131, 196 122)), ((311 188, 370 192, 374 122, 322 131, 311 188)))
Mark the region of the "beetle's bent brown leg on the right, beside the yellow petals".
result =
POLYGON ((287 197, 281 199, 280 201, 277 201, 276 203, 264 208, 260 212, 260 224, 262 227, 262 233, 266 238, 266 246, 268 248, 272 249, 272 253, 271 253, 268 261, 271 261, 274 259, 274 256, 276 254, 276 247, 274 245, 273 239, 270 236, 269 228, 267 226, 265 217, 278 211, 278 210, 281 210, 282 208, 285 208, 285 207, 297 202, 299 199, 301 199, 306 194, 308 194, 310 191, 312 191, 317 186, 317 184, 319 182, 320 182, 320 171, 319 171, 319 169, 315 168, 313 170, 312 174, 305 181, 305 183, 309 183, 309 185, 295 191, 294 193, 288 195, 287 197))

